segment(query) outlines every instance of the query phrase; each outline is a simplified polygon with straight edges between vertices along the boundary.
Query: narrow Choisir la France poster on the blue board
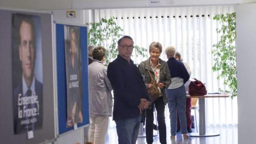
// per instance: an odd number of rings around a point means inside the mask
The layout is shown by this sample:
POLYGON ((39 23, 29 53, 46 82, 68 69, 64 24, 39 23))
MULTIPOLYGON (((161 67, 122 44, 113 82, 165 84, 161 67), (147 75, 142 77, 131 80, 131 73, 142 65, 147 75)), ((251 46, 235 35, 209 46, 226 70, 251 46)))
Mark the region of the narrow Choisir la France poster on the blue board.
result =
POLYGON ((80 28, 64 26, 67 79, 67 127, 83 122, 80 28))

